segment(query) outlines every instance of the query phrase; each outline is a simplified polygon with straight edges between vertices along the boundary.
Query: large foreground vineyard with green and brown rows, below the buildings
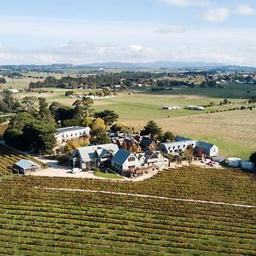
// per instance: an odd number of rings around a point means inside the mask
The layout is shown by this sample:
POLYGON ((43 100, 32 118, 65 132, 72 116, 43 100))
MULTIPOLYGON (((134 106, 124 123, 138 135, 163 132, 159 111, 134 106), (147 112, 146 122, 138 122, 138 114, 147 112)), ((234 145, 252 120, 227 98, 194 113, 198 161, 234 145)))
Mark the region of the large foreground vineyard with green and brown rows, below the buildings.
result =
POLYGON ((256 208, 166 198, 256 206, 255 186, 253 174, 196 167, 161 172, 138 183, 65 177, 4 179, 0 254, 256 255, 256 208), (91 193, 90 189, 165 198, 91 193))

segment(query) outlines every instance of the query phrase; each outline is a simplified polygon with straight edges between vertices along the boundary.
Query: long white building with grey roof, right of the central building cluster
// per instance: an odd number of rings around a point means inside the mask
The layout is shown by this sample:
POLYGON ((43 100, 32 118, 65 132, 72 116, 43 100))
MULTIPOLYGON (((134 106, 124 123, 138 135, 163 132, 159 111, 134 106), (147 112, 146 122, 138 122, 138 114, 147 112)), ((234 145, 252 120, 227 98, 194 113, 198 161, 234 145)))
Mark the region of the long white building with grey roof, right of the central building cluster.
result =
POLYGON ((186 148, 188 148, 189 145, 195 148, 196 141, 184 140, 172 143, 160 143, 159 149, 166 154, 179 154, 180 152, 183 152, 186 148))

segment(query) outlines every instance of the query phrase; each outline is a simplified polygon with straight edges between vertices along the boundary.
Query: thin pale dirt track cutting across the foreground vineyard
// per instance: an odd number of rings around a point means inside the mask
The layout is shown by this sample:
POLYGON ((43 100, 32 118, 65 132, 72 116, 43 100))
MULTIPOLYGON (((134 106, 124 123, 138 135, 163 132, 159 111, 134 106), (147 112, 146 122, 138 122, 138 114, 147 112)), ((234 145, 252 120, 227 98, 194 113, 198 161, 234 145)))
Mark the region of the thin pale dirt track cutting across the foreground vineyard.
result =
POLYGON ((164 199, 164 200, 171 200, 171 201, 185 201, 185 202, 194 202, 194 203, 201 203, 201 204, 221 205, 221 206, 228 206, 228 207, 256 208, 255 206, 251 206, 251 205, 232 204, 232 203, 226 203, 222 201, 204 201, 204 200, 194 200, 194 199, 185 199, 185 198, 172 198, 172 197, 158 196, 158 195, 142 195, 142 194, 131 194, 131 193, 124 193, 124 192, 112 192, 112 191, 104 191, 104 190, 61 189, 61 188, 48 188, 48 187, 38 187, 38 186, 34 188, 46 189, 46 190, 57 190, 57 191, 110 194, 110 195, 129 195, 129 196, 144 197, 144 198, 164 199))

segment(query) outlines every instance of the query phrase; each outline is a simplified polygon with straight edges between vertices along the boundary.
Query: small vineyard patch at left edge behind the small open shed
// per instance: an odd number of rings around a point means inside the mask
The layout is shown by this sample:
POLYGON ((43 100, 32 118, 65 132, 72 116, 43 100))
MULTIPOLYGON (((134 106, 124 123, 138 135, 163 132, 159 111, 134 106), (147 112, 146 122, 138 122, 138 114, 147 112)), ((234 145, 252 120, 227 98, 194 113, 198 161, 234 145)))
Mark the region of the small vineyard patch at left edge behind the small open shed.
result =
POLYGON ((0 145, 0 177, 15 173, 14 165, 21 159, 28 159, 38 162, 24 154, 19 154, 12 149, 0 145))

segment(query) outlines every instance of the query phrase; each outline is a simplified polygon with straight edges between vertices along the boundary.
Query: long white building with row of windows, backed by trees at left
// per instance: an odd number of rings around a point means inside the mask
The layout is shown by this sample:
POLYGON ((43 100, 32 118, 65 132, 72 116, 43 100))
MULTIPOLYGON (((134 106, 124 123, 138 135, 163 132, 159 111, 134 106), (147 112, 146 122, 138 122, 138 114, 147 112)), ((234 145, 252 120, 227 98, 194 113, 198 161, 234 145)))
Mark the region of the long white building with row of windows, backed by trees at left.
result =
POLYGON ((70 126, 57 129, 55 138, 57 143, 65 143, 68 140, 89 136, 90 128, 83 126, 70 126))

